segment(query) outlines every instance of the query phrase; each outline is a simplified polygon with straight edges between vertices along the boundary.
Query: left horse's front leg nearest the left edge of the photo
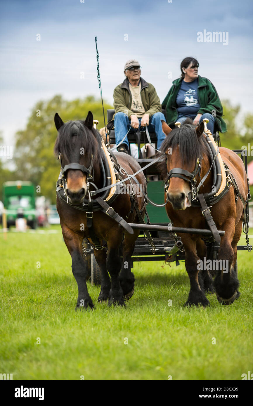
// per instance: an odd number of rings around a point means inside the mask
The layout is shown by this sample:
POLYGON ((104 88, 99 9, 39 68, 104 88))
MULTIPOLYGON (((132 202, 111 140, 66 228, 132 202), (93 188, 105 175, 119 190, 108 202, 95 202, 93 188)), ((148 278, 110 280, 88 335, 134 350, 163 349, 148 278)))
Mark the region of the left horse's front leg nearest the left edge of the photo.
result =
POLYGON ((63 239, 69 250, 72 259, 72 272, 78 285, 77 309, 93 309, 94 304, 89 296, 86 276, 86 263, 82 257, 82 240, 83 236, 70 230, 67 226, 62 226, 63 239))

